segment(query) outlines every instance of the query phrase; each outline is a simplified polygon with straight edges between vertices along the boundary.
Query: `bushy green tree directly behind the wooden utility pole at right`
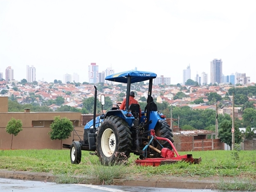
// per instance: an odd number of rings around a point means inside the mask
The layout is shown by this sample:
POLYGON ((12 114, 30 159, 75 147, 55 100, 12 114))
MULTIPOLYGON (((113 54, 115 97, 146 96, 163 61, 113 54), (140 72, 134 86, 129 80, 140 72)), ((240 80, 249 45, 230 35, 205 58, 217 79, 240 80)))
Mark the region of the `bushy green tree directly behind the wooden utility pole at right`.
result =
MULTIPOLYGON (((230 120, 223 120, 220 125, 219 125, 219 139, 221 142, 227 144, 230 146, 232 146, 232 121, 230 120)), ((240 144, 242 142, 242 137, 241 137, 241 132, 239 131, 238 126, 235 124, 235 132, 234 132, 234 136, 235 136, 235 144, 240 144)))

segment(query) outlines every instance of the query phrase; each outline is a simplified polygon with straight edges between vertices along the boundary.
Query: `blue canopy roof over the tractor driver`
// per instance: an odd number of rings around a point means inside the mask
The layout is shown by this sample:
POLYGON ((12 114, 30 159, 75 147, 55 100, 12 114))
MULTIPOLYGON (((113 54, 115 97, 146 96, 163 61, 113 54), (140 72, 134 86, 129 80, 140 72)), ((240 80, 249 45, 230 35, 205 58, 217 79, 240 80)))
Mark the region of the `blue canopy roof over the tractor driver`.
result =
POLYGON ((149 79, 154 79, 157 77, 157 74, 154 72, 127 71, 108 75, 105 80, 127 84, 127 78, 129 76, 131 77, 131 84, 133 84, 149 79))

